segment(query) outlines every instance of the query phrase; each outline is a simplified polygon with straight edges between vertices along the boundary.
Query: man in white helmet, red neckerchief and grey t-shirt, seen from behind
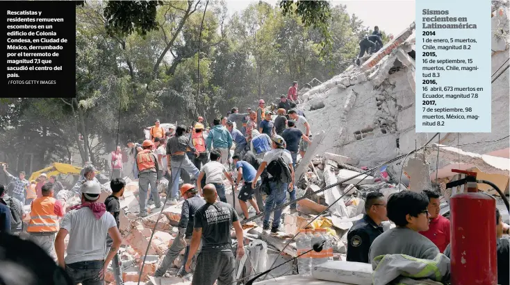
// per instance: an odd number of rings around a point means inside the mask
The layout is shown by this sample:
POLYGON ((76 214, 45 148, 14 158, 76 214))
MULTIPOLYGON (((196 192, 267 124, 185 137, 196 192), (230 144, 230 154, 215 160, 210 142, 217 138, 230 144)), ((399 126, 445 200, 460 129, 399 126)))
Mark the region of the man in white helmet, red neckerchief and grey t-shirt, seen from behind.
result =
POLYGON ((65 214, 55 239, 58 265, 65 269, 74 284, 102 285, 106 268, 122 244, 115 218, 106 211, 103 203, 97 202, 100 194, 99 182, 85 182, 81 188, 81 205, 72 207, 65 214), (67 234, 69 243, 65 250, 67 234), (106 234, 111 236, 113 243, 105 257, 106 234))

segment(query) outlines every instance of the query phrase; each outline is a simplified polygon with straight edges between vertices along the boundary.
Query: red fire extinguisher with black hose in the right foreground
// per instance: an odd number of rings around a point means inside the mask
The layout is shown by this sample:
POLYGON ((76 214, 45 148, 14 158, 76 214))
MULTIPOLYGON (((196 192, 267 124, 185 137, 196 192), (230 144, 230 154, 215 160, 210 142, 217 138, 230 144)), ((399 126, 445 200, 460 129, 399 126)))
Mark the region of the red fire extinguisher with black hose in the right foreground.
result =
POLYGON ((466 185, 464 193, 450 198, 451 284, 497 285, 495 198, 478 193, 476 172, 452 172, 466 178, 448 183, 447 188, 466 185))

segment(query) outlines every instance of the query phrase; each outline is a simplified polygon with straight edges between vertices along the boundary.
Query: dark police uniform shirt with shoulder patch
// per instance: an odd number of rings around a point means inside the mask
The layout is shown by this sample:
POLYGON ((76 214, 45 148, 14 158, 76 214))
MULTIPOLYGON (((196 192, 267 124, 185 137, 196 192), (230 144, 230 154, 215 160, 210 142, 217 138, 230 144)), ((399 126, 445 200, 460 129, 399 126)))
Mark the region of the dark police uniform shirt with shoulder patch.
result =
POLYGON ((365 214, 347 233, 347 261, 370 264, 368 251, 372 242, 383 233, 383 227, 365 214))

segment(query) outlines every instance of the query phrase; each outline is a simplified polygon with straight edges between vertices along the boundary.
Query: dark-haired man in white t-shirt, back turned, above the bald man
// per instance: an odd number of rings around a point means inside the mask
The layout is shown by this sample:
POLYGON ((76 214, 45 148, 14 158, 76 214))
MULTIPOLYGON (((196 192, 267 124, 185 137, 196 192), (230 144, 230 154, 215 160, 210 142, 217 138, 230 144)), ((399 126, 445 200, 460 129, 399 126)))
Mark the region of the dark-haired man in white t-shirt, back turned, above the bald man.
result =
MULTIPOLYGON (((227 177, 230 184, 233 185, 233 180, 229 171, 225 168, 224 164, 220 163, 221 153, 217 150, 211 151, 209 154, 209 162, 202 167, 200 174, 198 175, 198 181, 201 181, 204 175, 206 175, 206 184, 213 184, 220 200, 227 202, 227 196, 225 196, 225 185, 223 184, 223 175, 227 177)), ((198 193, 202 194, 201 184, 198 184, 198 193)))

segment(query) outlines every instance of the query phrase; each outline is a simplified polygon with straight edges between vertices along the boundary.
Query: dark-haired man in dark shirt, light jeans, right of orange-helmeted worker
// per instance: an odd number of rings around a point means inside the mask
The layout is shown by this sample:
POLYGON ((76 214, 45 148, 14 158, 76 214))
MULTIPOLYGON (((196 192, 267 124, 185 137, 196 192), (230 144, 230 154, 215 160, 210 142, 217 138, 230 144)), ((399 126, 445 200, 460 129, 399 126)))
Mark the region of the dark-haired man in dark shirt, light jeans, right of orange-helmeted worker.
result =
POLYGON ((170 205, 176 205, 177 199, 179 198, 179 177, 181 177, 181 171, 186 171, 188 174, 193 175, 193 179, 197 180, 199 170, 193 164, 186 150, 189 148, 195 153, 195 157, 199 157, 200 153, 197 148, 193 146, 192 141, 184 135, 186 132, 186 126, 177 126, 175 136, 171 137, 167 142, 167 164, 168 171, 172 173, 172 181, 168 184, 169 187, 172 185, 172 191, 167 193, 170 194, 170 205))

